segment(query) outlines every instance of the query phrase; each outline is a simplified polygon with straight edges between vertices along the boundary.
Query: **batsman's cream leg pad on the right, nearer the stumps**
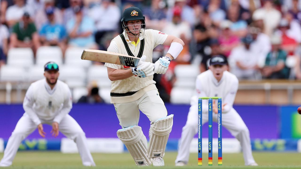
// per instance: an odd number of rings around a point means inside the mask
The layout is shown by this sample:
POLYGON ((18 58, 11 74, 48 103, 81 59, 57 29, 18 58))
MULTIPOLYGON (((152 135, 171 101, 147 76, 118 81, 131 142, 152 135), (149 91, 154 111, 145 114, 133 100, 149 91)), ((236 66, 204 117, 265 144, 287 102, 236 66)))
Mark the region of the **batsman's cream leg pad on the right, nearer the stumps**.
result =
POLYGON ((160 118, 151 125, 150 146, 147 151, 148 158, 164 157, 166 143, 172 130, 173 115, 160 118))

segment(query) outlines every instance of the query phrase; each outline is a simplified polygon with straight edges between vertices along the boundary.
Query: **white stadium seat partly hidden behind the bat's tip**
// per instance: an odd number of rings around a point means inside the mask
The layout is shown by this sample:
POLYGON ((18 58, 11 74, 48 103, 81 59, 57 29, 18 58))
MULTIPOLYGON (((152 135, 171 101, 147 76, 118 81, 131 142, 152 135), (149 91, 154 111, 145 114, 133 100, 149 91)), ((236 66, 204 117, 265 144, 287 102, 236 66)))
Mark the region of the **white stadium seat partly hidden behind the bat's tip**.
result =
POLYGON ((82 67, 88 67, 92 64, 90 60, 82 60, 82 51, 84 48, 68 48, 65 52, 65 64, 66 65, 79 65, 82 67))

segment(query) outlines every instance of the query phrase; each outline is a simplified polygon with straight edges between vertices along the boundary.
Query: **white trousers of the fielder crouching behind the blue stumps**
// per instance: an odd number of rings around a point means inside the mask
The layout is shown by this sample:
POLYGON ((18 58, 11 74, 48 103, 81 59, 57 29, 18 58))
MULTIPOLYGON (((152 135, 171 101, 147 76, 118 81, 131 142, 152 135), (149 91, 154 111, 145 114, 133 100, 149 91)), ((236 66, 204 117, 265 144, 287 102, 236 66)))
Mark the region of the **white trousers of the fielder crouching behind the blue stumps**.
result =
MULTIPOLYGON (((197 104, 193 104, 189 109, 186 124, 182 129, 182 136, 178 146, 178 156, 175 160, 176 163, 178 161, 183 161, 186 164, 188 163, 189 146, 194 135, 197 134, 197 115, 197 104)), ((213 121, 217 122, 217 114, 215 114, 214 112, 212 119, 213 121)), ((207 121, 208 114, 203 113, 202 124, 206 123, 207 121)), ((240 146, 243 150, 245 165, 254 163, 255 161, 252 155, 249 130, 236 110, 232 108, 229 112, 222 113, 222 126, 227 128, 228 131, 230 131, 230 133, 240 142, 240 146)))

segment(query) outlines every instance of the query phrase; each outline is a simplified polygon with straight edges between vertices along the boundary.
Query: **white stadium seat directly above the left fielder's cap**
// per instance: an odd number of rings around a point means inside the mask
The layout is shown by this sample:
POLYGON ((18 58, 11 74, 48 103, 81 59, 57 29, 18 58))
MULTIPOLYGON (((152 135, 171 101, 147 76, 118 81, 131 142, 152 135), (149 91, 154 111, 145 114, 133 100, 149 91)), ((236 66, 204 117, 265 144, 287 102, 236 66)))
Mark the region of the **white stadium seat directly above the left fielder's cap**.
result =
POLYGON ((59 66, 63 63, 63 53, 58 46, 42 46, 36 53, 36 64, 45 65, 45 63, 53 61, 59 66))

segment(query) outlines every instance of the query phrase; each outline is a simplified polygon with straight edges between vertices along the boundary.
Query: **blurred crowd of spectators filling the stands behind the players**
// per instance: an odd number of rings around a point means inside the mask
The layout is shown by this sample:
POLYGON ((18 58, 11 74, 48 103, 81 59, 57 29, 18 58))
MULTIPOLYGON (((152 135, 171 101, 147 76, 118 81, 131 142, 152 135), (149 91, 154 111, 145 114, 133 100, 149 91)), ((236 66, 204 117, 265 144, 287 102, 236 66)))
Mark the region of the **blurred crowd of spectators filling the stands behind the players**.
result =
MULTIPOLYGON (((239 79, 301 79, 301 0, 1 0, 0 66, 10 48, 106 50, 130 6, 141 8, 147 29, 186 44, 168 72, 154 77, 162 92, 170 93, 177 64, 203 72, 216 54, 239 79)), ((157 46, 154 61, 168 48, 157 46)))

